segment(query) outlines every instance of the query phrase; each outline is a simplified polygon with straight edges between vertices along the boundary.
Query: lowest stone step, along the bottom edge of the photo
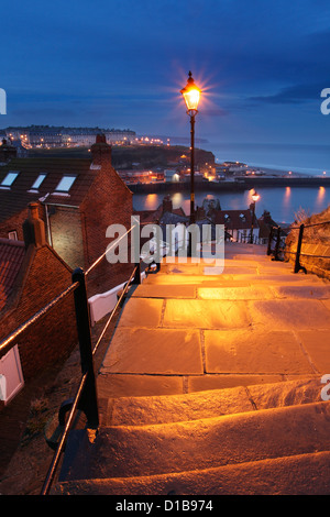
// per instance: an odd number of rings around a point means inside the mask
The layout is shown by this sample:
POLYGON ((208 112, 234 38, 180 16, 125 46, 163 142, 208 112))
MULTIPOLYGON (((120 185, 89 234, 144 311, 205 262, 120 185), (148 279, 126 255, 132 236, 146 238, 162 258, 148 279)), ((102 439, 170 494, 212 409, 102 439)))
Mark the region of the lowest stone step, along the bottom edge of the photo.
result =
POLYGON ((212 495, 329 495, 330 476, 326 474, 329 469, 327 451, 163 475, 63 481, 53 494, 161 495, 167 496, 163 497, 167 501, 163 509, 170 510, 176 509, 172 501, 185 495, 202 494, 200 499, 212 495))

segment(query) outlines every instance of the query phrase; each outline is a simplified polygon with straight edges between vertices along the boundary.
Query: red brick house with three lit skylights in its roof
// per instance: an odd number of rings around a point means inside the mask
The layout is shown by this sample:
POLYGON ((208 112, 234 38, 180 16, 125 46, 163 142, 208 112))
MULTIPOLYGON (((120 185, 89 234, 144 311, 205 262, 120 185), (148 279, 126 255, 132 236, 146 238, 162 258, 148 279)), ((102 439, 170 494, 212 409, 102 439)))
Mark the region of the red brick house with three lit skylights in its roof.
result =
MULTIPOLYGON (((111 146, 103 135, 90 158, 14 158, 0 167, 0 238, 22 240, 26 206, 40 204, 47 243, 72 267, 87 270, 110 240, 111 224, 131 227, 132 193, 111 165, 111 146)), ((131 264, 105 258, 88 278, 88 295, 124 282, 131 264)))

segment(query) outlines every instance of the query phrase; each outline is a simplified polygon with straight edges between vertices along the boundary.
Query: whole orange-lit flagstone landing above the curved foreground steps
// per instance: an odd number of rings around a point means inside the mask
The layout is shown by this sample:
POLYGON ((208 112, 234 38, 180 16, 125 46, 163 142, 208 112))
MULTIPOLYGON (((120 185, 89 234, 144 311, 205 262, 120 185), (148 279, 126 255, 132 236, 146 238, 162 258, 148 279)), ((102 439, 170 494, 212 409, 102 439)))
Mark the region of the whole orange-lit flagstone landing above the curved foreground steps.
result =
POLYGON ((131 289, 101 369, 116 396, 330 373, 329 282, 265 255, 233 256, 224 272, 168 262, 131 289))

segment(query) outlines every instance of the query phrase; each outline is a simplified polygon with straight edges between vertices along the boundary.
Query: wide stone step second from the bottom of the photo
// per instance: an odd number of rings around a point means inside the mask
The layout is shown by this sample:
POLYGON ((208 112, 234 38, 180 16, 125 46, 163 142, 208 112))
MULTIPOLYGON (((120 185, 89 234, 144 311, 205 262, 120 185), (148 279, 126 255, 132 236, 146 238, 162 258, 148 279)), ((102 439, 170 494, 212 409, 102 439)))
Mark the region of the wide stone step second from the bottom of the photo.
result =
MULTIPOLYGON (((72 431, 59 481, 202 471, 330 450, 327 402, 152 426, 72 431)), ((324 471, 327 472, 327 471, 324 471)))

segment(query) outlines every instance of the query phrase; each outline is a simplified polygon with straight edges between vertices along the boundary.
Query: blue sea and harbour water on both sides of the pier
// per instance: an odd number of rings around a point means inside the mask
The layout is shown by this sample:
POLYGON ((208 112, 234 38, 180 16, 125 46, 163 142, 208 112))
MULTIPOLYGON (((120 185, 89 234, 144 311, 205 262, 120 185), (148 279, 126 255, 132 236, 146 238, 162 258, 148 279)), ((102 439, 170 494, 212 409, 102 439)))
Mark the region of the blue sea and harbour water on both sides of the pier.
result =
MULTIPOLYGON (((298 144, 240 144, 200 142, 197 146, 211 151, 217 163, 243 162, 260 169, 273 169, 283 174, 289 170, 293 174, 306 176, 330 176, 330 144, 329 145, 298 145, 298 144)), ((189 213, 189 187, 187 191, 168 193, 174 208, 183 207, 189 213)), ((270 187, 257 188, 260 200, 256 202, 256 216, 267 210, 278 223, 289 224, 297 215, 304 212, 308 216, 319 213, 330 204, 330 187, 270 187)), ((136 210, 154 210, 164 198, 162 194, 134 194, 133 206, 136 210)), ((201 206, 204 199, 212 196, 219 199, 222 210, 246 209, 251 202, 251 191, 196 191, 195 204, 201 206)))

